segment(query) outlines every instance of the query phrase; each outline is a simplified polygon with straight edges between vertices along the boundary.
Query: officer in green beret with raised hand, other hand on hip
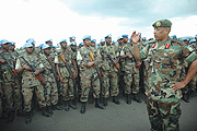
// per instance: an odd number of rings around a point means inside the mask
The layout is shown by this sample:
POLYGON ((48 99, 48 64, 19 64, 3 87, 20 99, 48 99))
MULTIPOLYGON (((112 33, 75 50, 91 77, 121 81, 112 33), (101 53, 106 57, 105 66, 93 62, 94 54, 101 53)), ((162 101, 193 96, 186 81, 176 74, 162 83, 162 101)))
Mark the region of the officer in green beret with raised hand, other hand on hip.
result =
POLYGON ((149 63, 146 94, 149 120, 153 131, 179 131, 181 88, 187 85, 197 71, 195 51, 182 41, 170 38, 171 25, 169 20, 153 23, 157 43, 151 47, 147 45, 141 51, 137 45, 139 34, 136 36, 134 32, 131 35, 136 59, 147 58, 149 63), (181 80, 183 60, 192 62, 192 66, 185 79, 181 80))

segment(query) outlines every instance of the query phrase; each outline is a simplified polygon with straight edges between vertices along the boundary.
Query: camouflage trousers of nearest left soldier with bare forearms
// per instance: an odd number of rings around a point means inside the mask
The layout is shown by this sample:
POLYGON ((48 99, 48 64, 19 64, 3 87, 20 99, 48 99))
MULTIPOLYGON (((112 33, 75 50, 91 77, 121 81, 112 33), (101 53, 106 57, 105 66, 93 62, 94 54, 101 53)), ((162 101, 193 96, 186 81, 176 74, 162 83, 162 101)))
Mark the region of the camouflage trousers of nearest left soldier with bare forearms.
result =
POLYGON ((23 100, 24 100, 24 111, 31 111, 32 109, 32 98, 35 93, 36 100, 39 104, 39 107, 46 107, 44 87, 39 84, 32 87, 22 87, 23 100))

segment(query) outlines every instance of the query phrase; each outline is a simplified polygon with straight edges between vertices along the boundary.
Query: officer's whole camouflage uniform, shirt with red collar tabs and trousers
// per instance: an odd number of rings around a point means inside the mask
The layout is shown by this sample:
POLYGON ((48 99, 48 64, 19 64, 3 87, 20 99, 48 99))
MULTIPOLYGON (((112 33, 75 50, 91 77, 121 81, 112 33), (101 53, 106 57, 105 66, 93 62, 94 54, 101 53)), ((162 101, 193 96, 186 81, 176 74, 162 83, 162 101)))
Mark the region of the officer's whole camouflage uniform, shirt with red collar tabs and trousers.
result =
POLYGON ((164 130, 179 130, 182 93, 181 90, 174 92, 169 85, 173 85, 170 82, 181 81, 183 60, 192 62, 197 59, 196 53, 185 44, 169 38, 153 46, 147 45, 140 57, 148 61, 146 94, 152 130, 162 130, 163 124, 164 130))

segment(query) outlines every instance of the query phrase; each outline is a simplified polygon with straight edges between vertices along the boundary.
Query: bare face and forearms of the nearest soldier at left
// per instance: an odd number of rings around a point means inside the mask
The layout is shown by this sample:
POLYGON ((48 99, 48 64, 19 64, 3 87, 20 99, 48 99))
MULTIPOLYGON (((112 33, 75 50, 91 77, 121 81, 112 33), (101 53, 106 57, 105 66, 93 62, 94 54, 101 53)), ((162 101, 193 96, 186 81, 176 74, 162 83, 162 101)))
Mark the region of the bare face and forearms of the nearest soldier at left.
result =
MULTIPOLYGON (((26 55, 31 56, 33 53, 33 51, 34 51, 34 48, 33 47, 26 47, 25 50, 26 50, 26 55)), ((31 71, 32 69, 27 64, 24 64, 21 69, 16 70, 16 73, 21 74, 21 73, 23 73, 24 70, 31 71)), ((44 68, 42 68, 39 70, 36 70, 34 72, 34 74, 38 75, 43 71, 44 71, 44 68)))

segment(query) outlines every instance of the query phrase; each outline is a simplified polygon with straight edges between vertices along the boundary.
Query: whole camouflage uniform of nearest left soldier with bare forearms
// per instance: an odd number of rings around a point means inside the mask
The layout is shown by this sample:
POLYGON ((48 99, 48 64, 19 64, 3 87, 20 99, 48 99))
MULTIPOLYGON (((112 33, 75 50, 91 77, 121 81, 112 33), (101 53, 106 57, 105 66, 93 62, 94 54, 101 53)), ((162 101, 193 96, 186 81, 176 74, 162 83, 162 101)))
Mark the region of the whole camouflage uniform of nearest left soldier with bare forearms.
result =
MULTIPOLYGON (((37 56, 32 53, 27 56, 23 55, 23 58, 32 66, 35 66, 36 70, 44 68, 42 61, 37 56)), ((27 64, 22 58, 16 60, 15 70, 21 69, 24 64, 27 64)), ((24 70, 22 73, 22 94, 24 100, 24 111, 30 112, 32 107, 32 98, 35 93, 37 102, 40 108, 46 107, 46 102, 44 97, 44 87, 40 85, 40 82, 35 76, 34 72, 24 70)))

